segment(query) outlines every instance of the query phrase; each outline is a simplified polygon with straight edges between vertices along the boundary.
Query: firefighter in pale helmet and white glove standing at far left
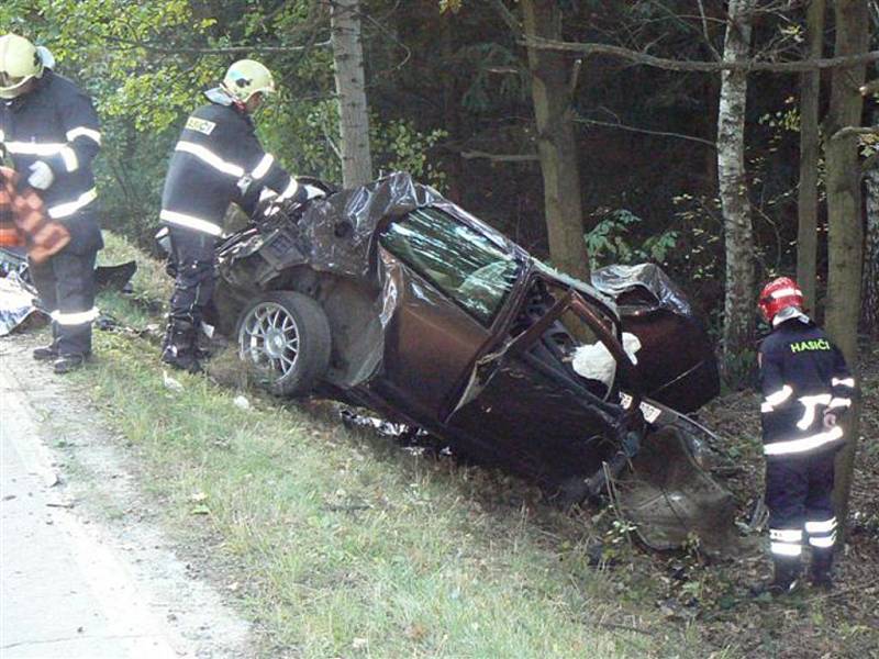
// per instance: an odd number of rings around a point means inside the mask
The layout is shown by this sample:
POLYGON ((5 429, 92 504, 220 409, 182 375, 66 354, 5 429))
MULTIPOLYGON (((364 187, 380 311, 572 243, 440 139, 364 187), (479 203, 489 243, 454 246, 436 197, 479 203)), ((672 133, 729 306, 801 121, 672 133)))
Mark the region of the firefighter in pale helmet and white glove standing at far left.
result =
POLYGON ((15 34, 0 36, 0 145, 69 244, 30 272, 52 315, 53 340, 34 358, 55 372, 78 368, 91 354, 94 258, 103 247, 93 211, 91 161, 101 146, 98 114, 70 80, 44 65, 47 51, 15 34))

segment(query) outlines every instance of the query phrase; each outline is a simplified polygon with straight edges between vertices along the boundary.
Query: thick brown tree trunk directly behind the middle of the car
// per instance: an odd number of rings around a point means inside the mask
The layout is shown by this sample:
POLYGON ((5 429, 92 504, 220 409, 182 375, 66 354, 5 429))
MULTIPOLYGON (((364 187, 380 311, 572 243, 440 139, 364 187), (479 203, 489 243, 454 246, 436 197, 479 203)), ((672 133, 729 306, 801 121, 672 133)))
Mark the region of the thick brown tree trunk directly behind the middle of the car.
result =
MULTIPOLYGON (((561 10, 556 0, 522 0, 522 14, 528 36, 561 37, 561 10)), ((537 153, 543 171, 549 256, 559 270, 588 281, 569 67, 565 55, 537 48, 528 48, 528 66, 537 120, 537 153)))

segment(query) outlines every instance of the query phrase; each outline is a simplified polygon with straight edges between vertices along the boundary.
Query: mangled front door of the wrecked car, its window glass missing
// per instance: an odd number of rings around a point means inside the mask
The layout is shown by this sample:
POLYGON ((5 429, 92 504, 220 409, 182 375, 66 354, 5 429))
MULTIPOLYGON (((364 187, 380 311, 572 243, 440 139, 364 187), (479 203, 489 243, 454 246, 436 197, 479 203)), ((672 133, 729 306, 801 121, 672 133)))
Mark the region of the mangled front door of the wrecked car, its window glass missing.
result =
POLYGON ((598 469, 631 424, 623 405, 591 391, 541 343, 567 316, 571 330, 575 322, 588 326, 623 372, 631 362, 598 308, 574 289, 556 287, 554 295, 527 330, 480 357, 446 426, 467 450, 559 483, 598 469))

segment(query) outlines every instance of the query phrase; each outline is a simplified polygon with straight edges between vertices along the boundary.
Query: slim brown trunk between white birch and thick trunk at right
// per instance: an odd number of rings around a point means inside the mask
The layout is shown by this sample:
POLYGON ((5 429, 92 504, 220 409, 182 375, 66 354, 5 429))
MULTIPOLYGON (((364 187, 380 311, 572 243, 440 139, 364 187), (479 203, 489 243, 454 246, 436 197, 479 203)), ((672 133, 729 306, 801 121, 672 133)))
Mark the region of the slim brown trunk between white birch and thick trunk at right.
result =
MULTIPOLYGON (((806 16, 809 59, 824 52, 824 0, 812 0, 806 16)), ((821 96, 821 71, 806 71, 800 79, 800 191, 798 200, 797 282, 803 291, 805 308, 814 313, 817 269, 817 105, 821 96)))

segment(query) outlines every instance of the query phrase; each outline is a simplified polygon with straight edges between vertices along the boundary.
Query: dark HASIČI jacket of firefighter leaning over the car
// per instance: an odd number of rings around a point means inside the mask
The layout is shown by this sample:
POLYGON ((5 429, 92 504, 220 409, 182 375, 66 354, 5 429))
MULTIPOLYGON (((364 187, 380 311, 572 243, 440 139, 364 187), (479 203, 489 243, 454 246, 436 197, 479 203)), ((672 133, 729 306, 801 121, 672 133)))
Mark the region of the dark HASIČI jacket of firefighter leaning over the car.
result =
POLYGON ((252 212, 264 188, 290 199, 304 193, 296 179, 263 150, 254 123, 221 89, 187 120, 171 156, 160 219, 212 236, 223 233, 231 202, 252 212))

